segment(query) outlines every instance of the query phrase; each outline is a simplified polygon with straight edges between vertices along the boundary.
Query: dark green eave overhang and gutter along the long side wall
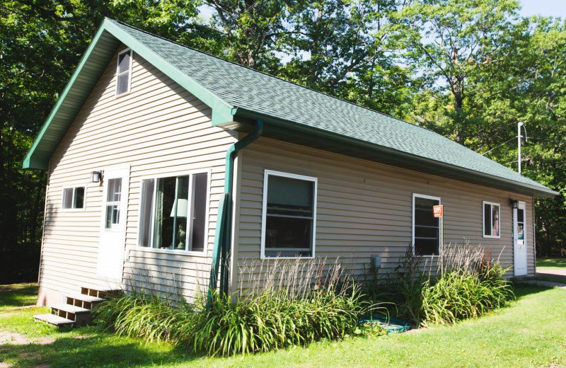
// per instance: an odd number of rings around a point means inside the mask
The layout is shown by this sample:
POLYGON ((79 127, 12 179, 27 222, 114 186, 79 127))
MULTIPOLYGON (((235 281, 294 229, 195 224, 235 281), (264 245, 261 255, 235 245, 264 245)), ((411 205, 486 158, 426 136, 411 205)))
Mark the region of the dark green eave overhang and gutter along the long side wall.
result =
POLYGON ((236 111, 233 122, 222 123, 219 124, 219 126, 240 132, 248 132, 252 126, 250 121, 256 119, 263 120, 265 123, 262 137, 300 144, 302 146, 310 146, 336 154, 345 154, 347 156, 385 163, 420 173, 461 180, 466 183, 483 185, 499 190, 508 190, 510 192, 533 197, 552 198, 559 194, 548 188, 518 183, 514 180, 508 180, 448 163, 426 159, 422 156, 415 156, 403 151, 376 146, 375 144, 370 144, 358 139, 344 137, 324 130, 317 130, 313 127, 306 127, 286 120, 277 120, 273 117, 243 110, 241 108, 238 108, 236 111))

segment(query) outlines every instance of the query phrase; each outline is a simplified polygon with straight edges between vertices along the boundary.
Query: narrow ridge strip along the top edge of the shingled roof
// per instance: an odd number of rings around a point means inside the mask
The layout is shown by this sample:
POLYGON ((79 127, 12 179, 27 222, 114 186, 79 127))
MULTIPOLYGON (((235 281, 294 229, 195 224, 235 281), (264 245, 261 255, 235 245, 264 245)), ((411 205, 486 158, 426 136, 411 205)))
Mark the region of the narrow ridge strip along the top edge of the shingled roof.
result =
MULTIPOLYGON (((364 109, 364 110, 371 111, 372 113, 376 113, 376 114, 383 115, 383 116, 386 116, 386 117, 391 117, 391 119, 398 120, 399 122, 403 122, 403 123, 405 123, 405 124, 411 125, 412 127, 418 127, 418 128, 420 128, 420 129, 427 130, 427 131, 433 132, 433 133, 435 133, 435 134, 439 134, 439 133, 437 133, 437 132, 434 132, 434 130, 432 130, 432 129, 429 129, 429 128, 427 128, 427 127, 422 127, 422 126, 417 125, 417 124, 413 124, 412 122, 405 121, 405 120, 401 119, 400 117, 395 117, 395 116, 393 116, 393 115, 389 115, 389 114, 386 114, 386 113, 381 113, 381 111, 377 111, 377 110, 374 110, 374 109, 371 109, 371 108, 367 108, 366 106, 358 105, 357 103, 353 103, 353 102, 351 102, 351 101, 344 100, 344 99, 339 98, 339 97, 336 97, 336 96, 332 96, 332 95, 330 95, 330 94, 328 94, 328 93, 324 93, 324 92, 321 92, 321 91, 317 91, 316 89, 313 89, 313 88, 310 88, 310 87, 307 87, 307 86, 302 86, 301 84, 295 83, 294 81, 288 81, 287 79, 283 79, 283 78, 281 78, 281 77, 279 77, 279 76, 274 76, 274 75, 272 75, 272 74, 266 73, 265 71, 261 71, 261 70, 258 70, 258 69, 252 69, 252 68, 250 68, 250 67, 246 67, 245 65, 238 64, 237 62, 232 62, 232 61, 230 61, 230 60, 223 59, 223 58, 218 57, 218 56, 216 56, 216 55, 209 54, 208 52, 204 52, 204 51, 202 51, 202 50, 195 49, 194 47, 190 47, 190 46, 187 46, 187 45, 183 45, 182 43, 179 43, 179 42, 176 42, 176 41, 173 41, 173 40, 169 40, 168 38, 164 38, 163 36, 156 35, 155 33, 151 33, 151 32, 149 32, 149 31, 147 31, 147 30, 142 30, 142 29, 140 29, 140 28, 134 27, 133 25, 129 25, 129 24, 124 23, 124 22, 122 22, 122 21, 118 21, 118 20, 116 20, 116 19, 112 19, 112 18, 108 18, 108 17, 105 17, 105 19, 108 19, 109 21, 112 21, 112 22, 120 23, 121 25, 125 25, 126 27, 132 28, 132 29, 134 29, 134 30, 139 30, 139 32, 143 32, 143 33, 146 33, 146 34, 151 35, 151 36, 153 36, 153 37, 160 38, 161 40, 164 40, 164 41, 167 41, 167 42, 171 42, 171 43, 173 43, 173 44, 175 44, 175 45, 179 45, 179 46, 181 46, 181 47, 185 47, 185 48, 187 48, 187 49, 189 49, 189 50, 192 50, 192 51, 195 51, 195 52, 199 52, 200 54, 205 54, 205 55, 207 55, 207 56, 209 56, 209 57, 214 57, 214 59, 219 59, 219 60, 221 60, 221 61, 223 61, 223 62, 229 62, 230 64, 234 64, 234 65, 236 65, 237 67, 241 67, 241 68, 244 68, 244 69, 248 69, 248 70, 250 70, 250 71, 255 71, 256 73, 260 73, 260 74, 263 74, 263 75, 265 75, 265 76, 269 76, 270 78, 275 78, 275 79, 278 79, 279 81, 284 81, 284 82, 286 82, 286 83, 293 84, 294 86, 298 86, 298 87, 301 87, 301 88, 305 88, 305 89, 307 89, 308 91, 313 91, 313 92, 315 92, 315 93, 320 93, 320 94, 323 95, 323 96, 327 96, 327 97, 330 97, 330 98, 334 98, 335 100, 339 100, 339 101, 341 101, 341 102, 343 102, 343 103, 348 103, 348 104, 353 105, 353 106, 355 106, 355 107, 357 107, 357 108, 362 108, 362 109, 364 109)), ((440 135, 441 137, 444 137, 444 135, 442 135, 442 134, 439 134, 439 135, 440 135)), ((444 137, 444 138, 448 139, 448 140, 451 141, 451 142, 454 142, 454 141, 452 141, 451 139, 449 139, 449 138, 447 138, 447 137, 444 137)))

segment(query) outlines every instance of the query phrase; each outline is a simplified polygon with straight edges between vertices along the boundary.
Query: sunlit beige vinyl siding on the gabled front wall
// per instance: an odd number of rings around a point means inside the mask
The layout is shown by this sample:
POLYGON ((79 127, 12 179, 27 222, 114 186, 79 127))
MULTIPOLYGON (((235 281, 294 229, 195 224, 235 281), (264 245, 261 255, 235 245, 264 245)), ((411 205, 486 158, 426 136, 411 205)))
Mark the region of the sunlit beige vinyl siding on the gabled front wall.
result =
POLYGON ((116 59, 117 54, 52 156, 40 286, 64 294, 79 292, 81 286, 116 286, 96 275, 103 186, 89 181, 91 171, 127 164, 125 283, 118 286, 175 289, 194 296, 197 285, 207 287, 224 157, 236 137, 212 127, 207 105, 135 53, 131 91, 115 96, 116 59), (172 254, 139 248, 142 178, 198 171, 211 173, 207 251, 172 254), (61 209, 62 188, 70 185, 86 185, 85 209, 61 209))

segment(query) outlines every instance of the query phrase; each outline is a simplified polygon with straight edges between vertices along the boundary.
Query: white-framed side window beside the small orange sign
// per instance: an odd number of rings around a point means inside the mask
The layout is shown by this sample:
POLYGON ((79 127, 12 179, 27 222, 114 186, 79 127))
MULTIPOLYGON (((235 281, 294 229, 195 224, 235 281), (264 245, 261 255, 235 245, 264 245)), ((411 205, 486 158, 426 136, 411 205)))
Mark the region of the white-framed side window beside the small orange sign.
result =
POLYGON ((412 252, 415 255, 440 254, 440 222, 432 206, 440 205, 439 197, 412 195, 412 252))

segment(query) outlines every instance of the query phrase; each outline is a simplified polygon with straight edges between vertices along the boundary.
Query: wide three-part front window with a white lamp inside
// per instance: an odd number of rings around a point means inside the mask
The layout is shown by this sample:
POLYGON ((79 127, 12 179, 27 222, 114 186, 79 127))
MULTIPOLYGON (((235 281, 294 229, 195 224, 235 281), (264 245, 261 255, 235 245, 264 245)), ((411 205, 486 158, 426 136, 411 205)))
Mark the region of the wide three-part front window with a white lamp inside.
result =
POLYGON ((141 180, 139 246, 204 251, 208 174, 141 180))

